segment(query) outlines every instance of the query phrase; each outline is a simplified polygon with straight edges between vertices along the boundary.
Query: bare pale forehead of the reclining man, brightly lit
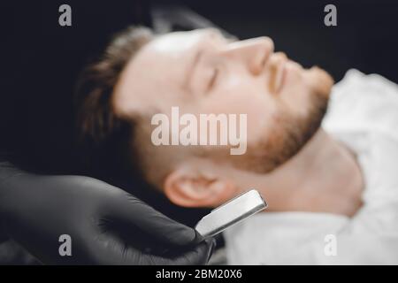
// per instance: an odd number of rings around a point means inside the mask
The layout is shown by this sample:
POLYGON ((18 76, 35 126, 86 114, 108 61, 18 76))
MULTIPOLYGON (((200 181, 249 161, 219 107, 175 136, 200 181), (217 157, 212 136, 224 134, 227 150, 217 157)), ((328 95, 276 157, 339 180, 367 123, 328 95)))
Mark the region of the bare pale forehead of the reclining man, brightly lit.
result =
POLYGON ((158 93, 158 89, 175 95, 197 50, 217 33, 212 29, 175 32, 149 42, 126 66, 119 79, 113 96, 115 109, 126 114, 143 105, 152 105, 154 99, 148 94, 158 93))

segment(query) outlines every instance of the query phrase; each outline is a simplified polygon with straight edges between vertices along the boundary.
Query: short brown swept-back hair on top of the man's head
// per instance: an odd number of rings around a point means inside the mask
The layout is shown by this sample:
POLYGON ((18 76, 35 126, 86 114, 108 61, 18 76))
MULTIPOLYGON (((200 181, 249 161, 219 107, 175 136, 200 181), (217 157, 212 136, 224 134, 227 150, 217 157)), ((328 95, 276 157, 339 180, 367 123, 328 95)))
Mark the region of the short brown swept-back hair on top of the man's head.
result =
POLYGON ((78 146, 84 164, 95 172, 114 165, 126 169, 126 163, 135 156, 129 146, 134 121, 115 116, 111 96, 126 64, 152 38, 149 28, 128 27, 116 34, 103 56, 80 74, 75 96, 78 146), (128 158, 126 150, 131 153, 128 158))

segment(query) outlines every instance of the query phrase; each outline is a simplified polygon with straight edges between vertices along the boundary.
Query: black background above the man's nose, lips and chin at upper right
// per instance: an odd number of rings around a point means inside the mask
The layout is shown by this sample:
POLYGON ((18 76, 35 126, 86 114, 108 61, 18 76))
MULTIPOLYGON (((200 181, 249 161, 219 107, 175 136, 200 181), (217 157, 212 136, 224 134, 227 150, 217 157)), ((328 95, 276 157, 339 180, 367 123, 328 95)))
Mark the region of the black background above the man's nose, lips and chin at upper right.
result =
POLYGON ((276 50, 302 65, 320 65, 336 80, 349 68, 357 68, 398 82, 396 1, 180 2, 240 38, 270 36, 276 50), (337 27, 324 25, 326 4, 337 8, 337 27))

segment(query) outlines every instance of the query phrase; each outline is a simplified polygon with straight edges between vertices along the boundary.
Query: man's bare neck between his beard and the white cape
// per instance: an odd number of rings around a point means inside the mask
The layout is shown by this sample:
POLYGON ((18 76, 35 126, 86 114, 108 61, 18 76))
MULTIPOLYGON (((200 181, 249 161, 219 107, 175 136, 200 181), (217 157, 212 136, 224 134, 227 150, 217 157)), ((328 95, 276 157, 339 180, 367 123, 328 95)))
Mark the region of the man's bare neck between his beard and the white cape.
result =
POLYGON ((322 129, 286 164, 264 175, 251 175, 248 181, 264 195, 269 210, 347 216, 361 206, 364 187, 356 157, 322 129))

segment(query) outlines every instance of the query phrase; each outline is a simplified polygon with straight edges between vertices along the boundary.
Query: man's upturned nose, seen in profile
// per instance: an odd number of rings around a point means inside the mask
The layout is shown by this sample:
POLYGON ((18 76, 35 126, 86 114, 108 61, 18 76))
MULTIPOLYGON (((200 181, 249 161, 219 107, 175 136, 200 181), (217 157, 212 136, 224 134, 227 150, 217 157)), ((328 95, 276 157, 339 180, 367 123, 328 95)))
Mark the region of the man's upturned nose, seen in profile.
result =
POLYGON ((264 65, 273 52, 272 39, 266 36, 229 43, 224 50, 226 57, 238 60, 255 75, 262 73, 264 65))

